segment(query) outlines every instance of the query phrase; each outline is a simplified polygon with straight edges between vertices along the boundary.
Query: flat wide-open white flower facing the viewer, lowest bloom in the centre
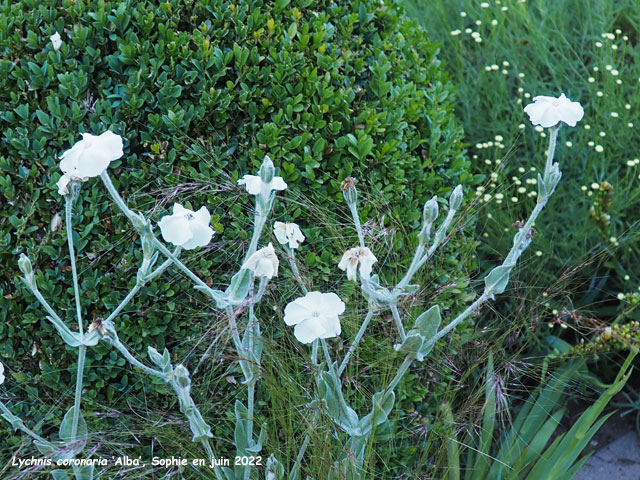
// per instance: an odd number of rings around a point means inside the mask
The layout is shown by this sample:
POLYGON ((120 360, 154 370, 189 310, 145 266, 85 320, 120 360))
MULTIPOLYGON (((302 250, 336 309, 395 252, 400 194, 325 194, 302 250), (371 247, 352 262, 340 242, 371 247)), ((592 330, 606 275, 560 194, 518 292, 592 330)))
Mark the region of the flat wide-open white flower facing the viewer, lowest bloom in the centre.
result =
POLYGON ((284 309, 284 323, 295 325, 293 334, 302 343, 340 335, 344 302, 335 293, 309 292, 284 309))

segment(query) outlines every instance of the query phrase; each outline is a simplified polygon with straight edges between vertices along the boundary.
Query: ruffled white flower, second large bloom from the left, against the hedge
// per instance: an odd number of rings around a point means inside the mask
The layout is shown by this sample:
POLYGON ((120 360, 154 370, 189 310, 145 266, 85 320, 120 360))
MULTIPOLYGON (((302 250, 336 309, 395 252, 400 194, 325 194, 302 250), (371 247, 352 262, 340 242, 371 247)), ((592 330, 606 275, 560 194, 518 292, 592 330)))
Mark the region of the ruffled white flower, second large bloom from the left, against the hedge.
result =
POLYGON ((158 226, 165 241, 185 250, 193 250, 196 247, 204 247, 211 241, 213 230, 209 222, 211 214, 207 207, 194 212, 179 203, 174 203, 173 214, 162 217, 158 226))

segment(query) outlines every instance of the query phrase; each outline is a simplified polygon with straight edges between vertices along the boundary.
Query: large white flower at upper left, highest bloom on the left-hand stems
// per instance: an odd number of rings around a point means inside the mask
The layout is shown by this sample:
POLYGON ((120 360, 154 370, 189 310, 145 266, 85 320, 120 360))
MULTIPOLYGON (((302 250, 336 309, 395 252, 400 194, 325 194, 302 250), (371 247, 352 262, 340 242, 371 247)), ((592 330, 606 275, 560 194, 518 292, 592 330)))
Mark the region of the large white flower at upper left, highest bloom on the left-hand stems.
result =
POLYGON ((98 136, 83 133, 82 140, 60 156, 60 170, 71 180, 97 177, 124 155, 122 147, 122 137, 110 130, 98 136))

